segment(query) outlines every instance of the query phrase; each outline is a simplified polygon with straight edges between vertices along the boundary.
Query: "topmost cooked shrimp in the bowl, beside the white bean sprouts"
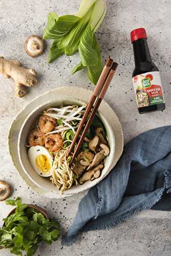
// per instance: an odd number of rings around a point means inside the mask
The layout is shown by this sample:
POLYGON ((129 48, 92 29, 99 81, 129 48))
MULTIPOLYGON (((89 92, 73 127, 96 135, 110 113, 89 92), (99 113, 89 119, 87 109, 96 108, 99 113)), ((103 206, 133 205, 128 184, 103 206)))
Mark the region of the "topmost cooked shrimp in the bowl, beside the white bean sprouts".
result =
POLYGON ((42 133, 49 133, 53 131, 55 125, 56 119, 53 117, 41 115, 38 119, 38 127, 42 133))

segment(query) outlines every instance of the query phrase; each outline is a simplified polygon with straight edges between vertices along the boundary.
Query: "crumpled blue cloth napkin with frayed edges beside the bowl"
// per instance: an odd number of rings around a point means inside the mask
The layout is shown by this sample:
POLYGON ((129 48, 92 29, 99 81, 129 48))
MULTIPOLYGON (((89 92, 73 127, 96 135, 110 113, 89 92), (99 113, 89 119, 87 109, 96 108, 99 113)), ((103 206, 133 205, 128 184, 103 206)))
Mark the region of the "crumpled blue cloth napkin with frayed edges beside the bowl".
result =
POLYGON ((137 136, 124 146, 110 174, 82 198, 62 244, 81 231, 112 227, 145 209, 171 210, 171 126, 137 136))

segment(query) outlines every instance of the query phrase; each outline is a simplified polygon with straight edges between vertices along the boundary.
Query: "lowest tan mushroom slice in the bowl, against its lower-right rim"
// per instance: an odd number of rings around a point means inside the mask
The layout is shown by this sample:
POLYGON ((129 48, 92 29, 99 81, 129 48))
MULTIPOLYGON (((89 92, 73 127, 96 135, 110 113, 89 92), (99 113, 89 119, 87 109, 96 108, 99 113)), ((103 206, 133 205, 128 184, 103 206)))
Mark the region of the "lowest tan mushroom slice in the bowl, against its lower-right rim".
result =
POLYGON ((82 177, 79 179, 79 184, 83 184, 87 180, 94 180, 99 178, 103 167, 104 166, 102 164, 99 164, 98 166, 84 173, 82 177))

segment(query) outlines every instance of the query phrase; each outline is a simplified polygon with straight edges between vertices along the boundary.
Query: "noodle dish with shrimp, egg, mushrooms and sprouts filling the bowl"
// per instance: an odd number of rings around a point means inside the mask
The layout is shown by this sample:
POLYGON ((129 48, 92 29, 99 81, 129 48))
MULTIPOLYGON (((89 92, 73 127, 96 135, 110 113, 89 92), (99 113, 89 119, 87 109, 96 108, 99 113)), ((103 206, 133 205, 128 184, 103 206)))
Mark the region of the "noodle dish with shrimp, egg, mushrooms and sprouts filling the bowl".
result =
MULTIPOLYGON (((37 117, 30 129, 26 147, 34 171, 48 178, 60 193, 100 177, 105 158, 110 154, 106 130, 96 115, 72 166, 67 156, 86 104, 49 107, 37 117)), ((76 146, 76 144, 75 144, 76 146)))

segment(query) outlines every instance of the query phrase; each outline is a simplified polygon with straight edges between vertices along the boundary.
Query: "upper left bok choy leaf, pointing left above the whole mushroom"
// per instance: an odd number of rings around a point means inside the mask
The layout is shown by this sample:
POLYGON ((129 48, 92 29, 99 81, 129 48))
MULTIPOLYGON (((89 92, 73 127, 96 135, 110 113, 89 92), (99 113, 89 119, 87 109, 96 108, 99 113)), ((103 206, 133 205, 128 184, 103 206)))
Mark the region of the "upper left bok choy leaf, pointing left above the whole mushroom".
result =
MULTIPOLYGON (((47 27, 44 31, 44 39, 57 39, 60 40, 61 37, 65 36, 70 32, 72 27, 78 22, 80 19, 75 15, 64 15, 58 18, 55 18, 54 13, 53 17, 50 17, 51 13, 49 14, 49 20, 47 27)), ((56 14, 57 17, 57 14, 56 14)))

